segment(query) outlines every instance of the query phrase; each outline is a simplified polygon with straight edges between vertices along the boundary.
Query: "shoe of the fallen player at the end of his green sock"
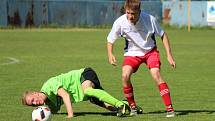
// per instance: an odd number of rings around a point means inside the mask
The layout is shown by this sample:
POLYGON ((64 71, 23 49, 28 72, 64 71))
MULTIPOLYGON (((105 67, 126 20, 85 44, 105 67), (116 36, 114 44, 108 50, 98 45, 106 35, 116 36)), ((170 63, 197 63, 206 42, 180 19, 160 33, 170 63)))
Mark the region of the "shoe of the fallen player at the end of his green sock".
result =
POLYGON ((117 108, 117 116, 118 117, 123 117, 127 114, 130 113, 130 108, 127 104, 121 105, 120 107, 117 108))

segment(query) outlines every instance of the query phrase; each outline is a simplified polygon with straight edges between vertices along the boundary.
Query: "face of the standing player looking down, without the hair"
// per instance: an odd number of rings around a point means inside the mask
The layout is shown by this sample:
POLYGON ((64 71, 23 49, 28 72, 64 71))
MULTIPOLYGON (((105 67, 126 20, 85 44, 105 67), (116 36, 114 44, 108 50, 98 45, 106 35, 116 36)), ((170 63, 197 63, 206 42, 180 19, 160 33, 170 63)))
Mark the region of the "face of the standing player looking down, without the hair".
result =
POLYGON ((140 16, 140 11, 139 10, 134 11, 131 9, 126 9, 125 12, 126 12, 128 21, 136 24, 136 22, 138 21, 139 16, 140 16))

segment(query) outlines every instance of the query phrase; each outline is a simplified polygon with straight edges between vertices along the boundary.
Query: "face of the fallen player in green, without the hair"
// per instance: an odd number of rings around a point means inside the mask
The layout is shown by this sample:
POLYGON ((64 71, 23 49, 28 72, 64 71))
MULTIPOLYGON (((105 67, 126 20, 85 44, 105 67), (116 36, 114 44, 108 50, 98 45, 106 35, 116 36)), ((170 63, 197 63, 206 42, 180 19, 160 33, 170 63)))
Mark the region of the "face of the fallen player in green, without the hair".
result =
POLYGON ((26 103, 27 103, 27 105, 30 105, 30 106, 38 106, 38 105, 43 105, 44 104, 44 100, 39 95, 39 93, 35 92, 35 93, 32 93, 32 94, 29 94, 26 97, 26 103))

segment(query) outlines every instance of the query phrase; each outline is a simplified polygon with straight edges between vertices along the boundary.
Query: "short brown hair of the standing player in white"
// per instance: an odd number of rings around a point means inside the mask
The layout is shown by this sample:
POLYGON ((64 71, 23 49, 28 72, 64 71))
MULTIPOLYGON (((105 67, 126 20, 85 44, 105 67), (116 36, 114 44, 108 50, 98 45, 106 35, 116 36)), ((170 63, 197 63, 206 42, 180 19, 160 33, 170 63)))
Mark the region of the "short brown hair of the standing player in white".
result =
POLYGON ((141 1, 140 0, 126 0, 124 4, 124 10, 131 9, 134 11, 140 11, 141 1))

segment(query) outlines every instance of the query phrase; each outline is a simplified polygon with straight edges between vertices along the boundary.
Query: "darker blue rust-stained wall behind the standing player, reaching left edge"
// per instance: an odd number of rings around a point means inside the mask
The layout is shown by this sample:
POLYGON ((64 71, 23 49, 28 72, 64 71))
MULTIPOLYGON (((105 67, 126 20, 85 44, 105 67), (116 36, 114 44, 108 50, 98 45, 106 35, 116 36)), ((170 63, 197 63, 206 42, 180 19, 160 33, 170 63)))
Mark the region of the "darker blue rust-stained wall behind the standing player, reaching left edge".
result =
MULTIPOLYGON (((124 1, 108 0, 1 0, 0 26, 79 26, 112 24, 124 1)), ((141 8, 162 19, 160 1, 142 1, 141 8)))

